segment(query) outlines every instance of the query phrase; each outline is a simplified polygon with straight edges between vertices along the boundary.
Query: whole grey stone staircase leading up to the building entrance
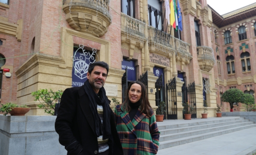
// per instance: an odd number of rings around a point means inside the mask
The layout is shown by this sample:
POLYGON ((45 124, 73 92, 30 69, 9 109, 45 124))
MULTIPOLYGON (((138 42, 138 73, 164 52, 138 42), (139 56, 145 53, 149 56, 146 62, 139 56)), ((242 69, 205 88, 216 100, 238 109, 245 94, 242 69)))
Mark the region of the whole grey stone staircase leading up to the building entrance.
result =
POLYGON ((197 120, 191 123, 189 123, 191 120, 183 120, 184 123, 179 122, 179 124, 157 124, 161 132, 158 149, 175 147, 193 141, 200 141, 206 138, 256 127, 253 121, 240 117, 222 118, 219 120, 208 118, 197 120))

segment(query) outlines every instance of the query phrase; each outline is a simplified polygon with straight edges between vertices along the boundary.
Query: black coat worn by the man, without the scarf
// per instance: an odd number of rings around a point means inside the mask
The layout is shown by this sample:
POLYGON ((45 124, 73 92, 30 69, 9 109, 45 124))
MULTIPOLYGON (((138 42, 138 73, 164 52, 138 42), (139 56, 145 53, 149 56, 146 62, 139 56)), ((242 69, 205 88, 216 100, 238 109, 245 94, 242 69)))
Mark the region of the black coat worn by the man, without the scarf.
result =
MULTIPOLYGON (((67 155, 97 155, 99 152, 93 113, 88 101, 84 86, 67 88, 61 96, 55 130, 59 135, 60 144, 67 149, 67 155)), ((107 102, 109 104, 111 101, 107 102)), ((111 111, 109 155, 123 155, 114 113, 110 107, 109 109, 111 111)))

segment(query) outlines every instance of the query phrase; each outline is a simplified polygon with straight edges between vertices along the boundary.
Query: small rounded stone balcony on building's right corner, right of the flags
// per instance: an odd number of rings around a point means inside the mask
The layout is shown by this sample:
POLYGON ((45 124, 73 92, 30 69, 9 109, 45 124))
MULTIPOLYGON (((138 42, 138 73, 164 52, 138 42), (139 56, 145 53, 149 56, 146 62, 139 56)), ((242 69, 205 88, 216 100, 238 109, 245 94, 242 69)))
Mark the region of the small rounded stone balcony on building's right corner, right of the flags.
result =
POLYGON ((198 46, 198 62, 201 70, 209 72, 215 64, 215 58, 212 48, 207 46, 198 46))

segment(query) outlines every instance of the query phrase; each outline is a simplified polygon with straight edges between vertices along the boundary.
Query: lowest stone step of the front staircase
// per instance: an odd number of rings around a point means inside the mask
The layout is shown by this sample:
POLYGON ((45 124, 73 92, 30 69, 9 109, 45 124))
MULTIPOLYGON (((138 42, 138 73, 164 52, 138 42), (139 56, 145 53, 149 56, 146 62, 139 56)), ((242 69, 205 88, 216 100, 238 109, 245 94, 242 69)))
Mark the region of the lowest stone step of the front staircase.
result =
POLYGON ((182 145, 182 144, 186 144, 186 143, 191 143, 193 141, 200 141, 203 139, 207 139, 207 138, 211 138, 211 137, 215 137, 218 135, 224 135, 230 132, 236 132, 239 130, 244 130, 244 129, 248 129, 251 127, 256 127, 256 124, 250 124, 250 125, 245 125, 245 126, 241 126, 241 127, 233 127, 230 129, 224 129, 224 130, 219 130, 219 131, 214 131, 214 132, 207 132, 207 133, 203 133, 200 135, 192 135, 189 137, 185 137, 185 138, 177 138, 177 139, 173 139, 173 140, 169 140, 169 141, 162 141, 160 142, 159 148, 158 149, 165 149, 165 148, 169 148, 169 147, 175 147, 178 145, 182 145))

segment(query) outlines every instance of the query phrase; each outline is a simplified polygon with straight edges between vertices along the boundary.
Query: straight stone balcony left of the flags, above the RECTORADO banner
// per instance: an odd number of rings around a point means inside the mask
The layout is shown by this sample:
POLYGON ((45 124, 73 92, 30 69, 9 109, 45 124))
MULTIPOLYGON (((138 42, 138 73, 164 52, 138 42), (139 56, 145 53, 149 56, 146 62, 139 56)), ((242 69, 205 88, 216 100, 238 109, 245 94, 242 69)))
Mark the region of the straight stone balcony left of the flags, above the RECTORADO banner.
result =
POLYGON ((145 23, 127 14, 121 13, 122 42, 135 44, 143 48, 145 38, 145 23))

